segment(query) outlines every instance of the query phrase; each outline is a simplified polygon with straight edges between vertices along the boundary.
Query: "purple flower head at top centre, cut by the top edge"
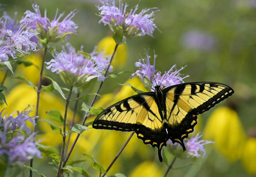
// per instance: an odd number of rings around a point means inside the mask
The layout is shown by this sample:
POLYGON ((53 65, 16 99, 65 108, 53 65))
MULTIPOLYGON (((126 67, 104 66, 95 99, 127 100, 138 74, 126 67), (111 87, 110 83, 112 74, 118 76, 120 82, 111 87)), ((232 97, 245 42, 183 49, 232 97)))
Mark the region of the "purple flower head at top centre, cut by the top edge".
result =
POLYGON ((143 9, 139 14, 136 14, 139 5, 135 6, 134 10, 126 12, 127 4, 123 4, 119 0, 119 7, 116 7, 115 0, 105 0, 100 1, 103 5, 97 6, 100 11, 101 19, 99 21, 104 25, 109 25, 112 31, 115 31, 117 26, 123 27, 124 36, 126 37, 139 37, 147 35, 152 35, 156 24, 153 23, 154 13, 157 11, 152 11, 149 14, 146 14, 148 11, 157 8, 148 8, 143 9))

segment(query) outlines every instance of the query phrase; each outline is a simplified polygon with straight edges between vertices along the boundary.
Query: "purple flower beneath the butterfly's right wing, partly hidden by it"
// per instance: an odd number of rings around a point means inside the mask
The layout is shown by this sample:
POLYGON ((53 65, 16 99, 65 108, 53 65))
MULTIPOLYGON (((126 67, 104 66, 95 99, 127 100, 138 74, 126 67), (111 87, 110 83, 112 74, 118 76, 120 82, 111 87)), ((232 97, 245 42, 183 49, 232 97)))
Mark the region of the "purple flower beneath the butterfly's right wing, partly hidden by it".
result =
MULTIPOLYGON (((203 153, 203 157, 205 157, 206 151, 204 149, 204 145, 209 144, 209 143, 214 143, 214 142, 199 140, 199 138, 202 136, 201 133, 197 133, 197 135, 195 137, 193 137, 193 135, 194 135, 194 133, 191 135, 190 139, 184 139, 184 145, 187 149, 186 158, 189 158, 189 157, 198 158, 198 157, 202 156, 202 153, 203 153)), ((172 146, 172 149, 181 147, 180 144, 177 142, 175 142, 173 144, 170 139, 167 141, 167 144, 170 144, 170 146, 172 146)), ((182 148, 180 148, 180 150, 182 150, 182 148)), ((178 152, 177 155, 180 155, 180 152, 178 152)))

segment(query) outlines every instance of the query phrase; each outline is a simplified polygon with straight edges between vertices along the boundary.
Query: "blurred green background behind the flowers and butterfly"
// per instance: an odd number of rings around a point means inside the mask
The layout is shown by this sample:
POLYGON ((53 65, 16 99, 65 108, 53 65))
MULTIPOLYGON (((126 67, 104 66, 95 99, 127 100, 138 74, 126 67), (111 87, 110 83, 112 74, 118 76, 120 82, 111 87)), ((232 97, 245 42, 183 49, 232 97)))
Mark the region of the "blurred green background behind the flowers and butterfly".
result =
MULTIPOLYGON (((124 3, 125 2, 129 4, 129 9, 132 6, 135 6, 138 3, 138 0, 126 0, 124 3)), ((60 13, 65 12, 65 15, 74 9, 79 11, 72 19, 78 24, 78 34, 72 35, 71 39, 68 41, 77 49, 79 49, 81 45, 84 45, 84 51, 91 52, 94 46, 97 45, 102 38, 111 35, 111 31, 107 26, 98 23, 100 17, 95 15, 98 13, 95 5, 100 3, 96 0, 37 0, 36 3, 40 6, 42 15, 44 14, 44 8, 47 9, 47 17, 50 20, 54 18, 56 8, 59 8, 60 13)), ((2 0, 1 4, 5 4, 5 11, 12 17, 14 12, 17 11, 18 20, 20 20, 26 10, 34 12, 31 7, 31 2, 28 0, 2 0)), ((190 75, 190 77, 184 79, 185 82, 215 81, 232 87, 235 90, 235 94, 228 98, 227 101, 220 103, 220 105, 229 105, 235 109, 242 127, 245 130, 246 136, 255 137, 256 95, 254 90, 256 89, 256 1, 140 1, 139 10, 151 7, 157 7, 160 10, 155 14, 154 23, 156 23, 161 32, 155 30, 153 33, 154 38, 146 35, 140 38, 127 40, 128 58, 125 61, 125 68, 115 67, 114 72, 123 70, 136 71, 137 68, 135 68, 134 63, 140 58, 139 53, 144 57, 144 49, 149 49, 149 54, 153 56, 153 50, 155 50, 155 53, 158 55, 156 58, 156 69, 159 71, 164 72, 169 70, 174 64, 177 65, 178 69, 187 65, 185 69, 181 71, 182 74, 190 75)), ((60 51, 61 45, 63 44, 64 42, 59 42, 53 45, 56 47, 57 51, 60 51)), ((51 55, 48 54, 46 60, 49 61, 50 59, 51 55)), ((59 80, 60 85, 65 86, 61 83, 57 74, 46 71, 45 75, 51 76, 54 80, 59 80)), ((104 95, 117 92, 121 87, 117 82, 124 83, 129 77, 130 74, 123 74, 117 79, 108 79, 104 81, 105 87, 103 85, 100 94, 104 95)), ((10 87, 14 87, 14 85, 15 84, 10 83, 10 87)), ((95 92, 96 88, 97 85, 90 86, 87 91, 95 92)), ((124 95, 124 97, 126 96, 124 95)), ((90 103, 90 101, 88 101, 88 103, 90 103)), ((220 105, 217 105, 216 107, 220 105)), ((81 106, 81 103, 79 106, 81 106)), ((70 108, 73 109, 73 107, 74 105, 71 104, 70 108)), ((204 129, 207 118, 216 107, 200 116, 201 131, 204 129)), ((83 112, 78 112, 78 114, 80 118, 83 117, 83 112)), ((79 121, 77 123, 79 123, 79 121)), ((217 126, 212 128, 218 131, 217 126)), ((108 134, 108 132, 109 131, 104 131, 105 134, 108 134)), ((114 146, 116 146, 116 150, 113 150, 113 154, 116 154, 125 142, 129 133, 111 131, 111 134, 113 134, 112 132, 118 135, 122 134, 120 136, 124 137, 117 141, 111 141, 111 143, 114 143, 114 146)), ((89 134, 90 132, 88 131, 86 133, 89 134)), ((154 152, 148 145, 144 145, 140 140, 137 140, 137 137, 135 136, 132 140, 136 142, 134 143, 134 146, 140 144, 140 148, 145 148, 149 152, 150 157, 155 157, 156 152, 154 152)), ((97 141, 105 142, 103 139, 98 139, 97 141)), ((249 175, 246 170, 244 170, 243 165, 241 165, 242 162, 239 160, 240 158, 231 162, 219 153, 218 150, 212 150, 211 147, 213 147, 213 145, 208 145, 206 148, 206 150, 209 150, 210 152, 207 153, 207 158, 196 159, 194 165, 179 170, 171 170, 168 175, 184 176, 187 174, 188 176, 193 176, 192 174, 194 173, 196 176, 233 177, 249 175), (200 162, 202 162, 203 165, 198 165, 200 162)), ((134 147, 129 146, 129 144, 127 148, 130 150, 134 149, 134 147)), ((97 151, 100 151, 100 148, 98 148, 97 151)), ((144 150, 141 150, 140 153, 143 153, 143 151, 144 150)), ((79 153, 74 152, 74 154, 76 155, 73 156, 73 159, 80 156, 79 153)), ((93 154, 93 150, 91 154, 95 155, 93 154)), ((125 158, 125 156, 122 157, 121 154, 120 160, 116 162, 118 163, 118 167, 115 167, 115 164, 113 166, 113 171, 110 171, 108 174, 110 175, 112 173, 115 174, 120 172, 127 176, 132 176, 131 173, 136 166, 138 167, 138 165, 144 161, 153 161, 154 159, 154 167, 159 170, 158 174, 165 173, 167 166, 164 163, 160 163, 157 158, 149 158, 149 156, 144 158, 142 158, 143 156, 139 156, 139 158, 136 158, 136 154, 138 154, 138 152, 134 152, 129 158, 125 158)), ((107 154, 101 154, 101 156, 107 156, 107 154)), ((97 156, 95 155, 95 157, 97 156)), ((112 159, 114 156, 110 157, 109 155, 108 158, 112 159)), ((194 160, 195 159, 190 161, 194 160)), ((53 176, 54 171, 48 170, 51 169, 52 166, 48 165, 47 162, 49 162, 49 159, 44 159, 43 161, 36 160, 35 166, 38 167, 41 172, 45 172, 47 176, 53 176)), ((102 164, 104 163, 100 160, 99 162, 102 164)), ((182 166, 188 162, 189 160, 179 159, 175 162, 174 167, 182 166)), ((149 163, 149 165, 146 164, 145 166, 154 169, 150 165, 152 164, 149 163)), ((80 166, 86 166, 87 168, 88 165, 82 164, 80 166)), ((107 168, 108 164, 103 166, 107 168)), ((141 169, 141 171, 143 171, 143 169, 141 169)), ((98 175, 98 172, 92 169, 92 167, 88 168, 88 172, 91 173, 92 176, 98 175)), ((141 176, 138 171, 136 173, 137 176, 141 176)))

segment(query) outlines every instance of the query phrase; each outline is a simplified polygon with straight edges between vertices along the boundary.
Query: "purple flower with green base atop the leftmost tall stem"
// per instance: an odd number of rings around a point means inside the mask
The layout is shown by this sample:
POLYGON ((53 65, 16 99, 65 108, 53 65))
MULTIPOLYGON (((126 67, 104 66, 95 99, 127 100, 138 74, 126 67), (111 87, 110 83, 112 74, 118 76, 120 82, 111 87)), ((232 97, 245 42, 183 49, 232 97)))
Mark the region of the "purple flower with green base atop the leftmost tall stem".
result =
POLYGON ((27 22, 29 30, 40 31, 41 39, 47 38, 48 42, 58 42, 59 40, 68 39, 71 34, 76 34, 78 27, 71 19, 75 16, 76 10, 71 11, 62 21, 61 17, 64 13, 58 16, 58 9, 52 21, 46 17, 46 9, 44 17, 42 17, 39 6, 32 4, 34 12, 27 10, 25 17, 20 20, 20 23, 27 22))

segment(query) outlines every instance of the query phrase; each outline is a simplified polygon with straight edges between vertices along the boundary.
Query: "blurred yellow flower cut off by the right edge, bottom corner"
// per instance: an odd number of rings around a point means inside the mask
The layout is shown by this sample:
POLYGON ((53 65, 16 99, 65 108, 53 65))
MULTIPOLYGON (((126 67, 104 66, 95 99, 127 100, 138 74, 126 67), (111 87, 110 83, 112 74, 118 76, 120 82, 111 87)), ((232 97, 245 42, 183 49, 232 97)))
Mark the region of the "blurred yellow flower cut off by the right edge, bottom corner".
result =
POLYGON ((249 174, 256 174, 256 138, 249 138, 244 145, 242 164, 249 174))

